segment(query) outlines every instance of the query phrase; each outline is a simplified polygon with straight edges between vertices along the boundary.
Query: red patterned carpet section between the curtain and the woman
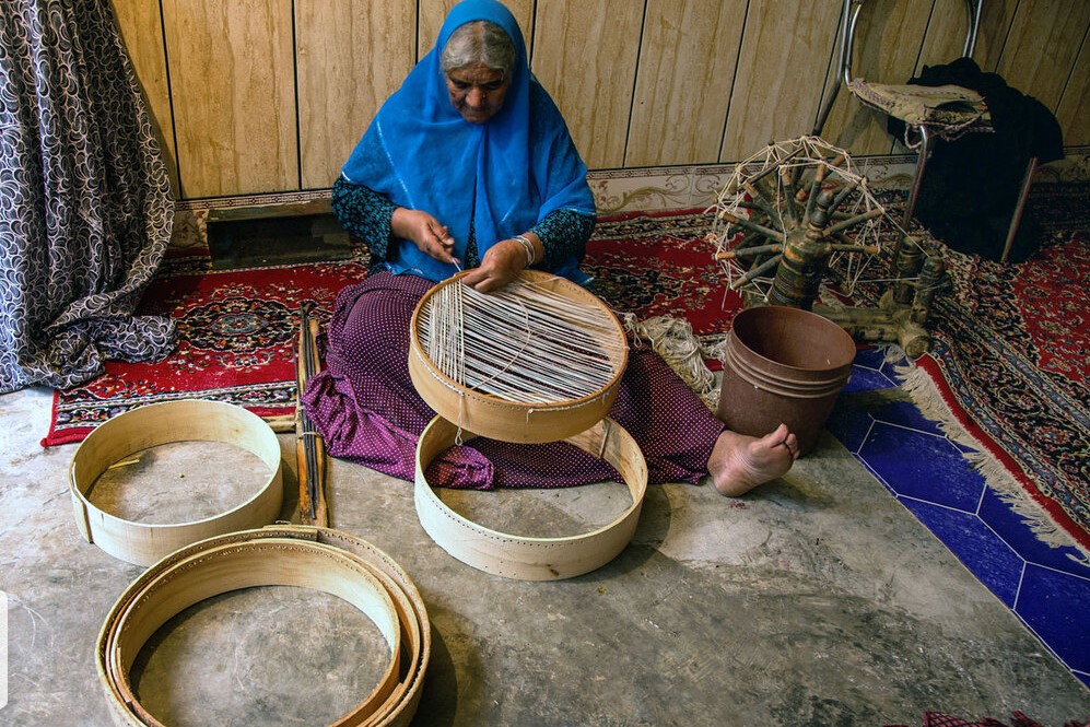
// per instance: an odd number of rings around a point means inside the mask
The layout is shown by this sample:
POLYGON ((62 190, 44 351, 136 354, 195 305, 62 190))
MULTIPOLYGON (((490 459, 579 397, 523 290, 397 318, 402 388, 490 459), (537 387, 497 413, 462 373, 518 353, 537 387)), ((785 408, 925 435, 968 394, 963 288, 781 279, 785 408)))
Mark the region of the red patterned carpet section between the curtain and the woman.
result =
POLYGON ((164 263, 138 313, 177 320, 174 353, 157 363, 112 361, 97 378, 57 391, 43 446, 79 442, 110 417, 173 399, 226 401, 273 420, 294 415, 300 306, 313 302, 312 316, 325 323, 338 291, 366 274, 366 260, 225 271, 164 263))

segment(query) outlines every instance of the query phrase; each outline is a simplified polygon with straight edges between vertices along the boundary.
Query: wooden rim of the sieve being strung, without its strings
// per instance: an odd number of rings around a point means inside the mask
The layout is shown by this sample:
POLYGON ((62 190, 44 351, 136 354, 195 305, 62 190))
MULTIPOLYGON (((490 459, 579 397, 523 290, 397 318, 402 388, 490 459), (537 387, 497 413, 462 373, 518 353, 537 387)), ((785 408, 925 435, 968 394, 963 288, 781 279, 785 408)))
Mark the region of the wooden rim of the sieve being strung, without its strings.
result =
POLYGON ((619 360, 612 362, 614 375, 600 390, 581 397, 550 403, 519 403, 489 394, 474 391, 445 375, 429 357, 420 343, 419 317, 432 297, 446 285, 461 284, 460 272, 433 286, 417 304, 410 324, 409 376, 420 397, 439 417, 476 432, 479 436, 517 443, 556 442, 584 432, 600 421, 617 399, 618 388, 628 365, 624 328, 612 312, 589 291, 575 283, 538 270, 523 270, 519 277, 548 288, 573 301, 600 306, 609 313, 616 326, 619 360))

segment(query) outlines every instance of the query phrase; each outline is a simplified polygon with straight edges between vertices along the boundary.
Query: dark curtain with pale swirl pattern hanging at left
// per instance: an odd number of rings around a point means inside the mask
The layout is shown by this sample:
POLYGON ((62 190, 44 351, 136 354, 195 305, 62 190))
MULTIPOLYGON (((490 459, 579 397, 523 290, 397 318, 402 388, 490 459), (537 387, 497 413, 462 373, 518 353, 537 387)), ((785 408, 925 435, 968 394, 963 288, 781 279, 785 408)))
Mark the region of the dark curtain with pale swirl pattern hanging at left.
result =
POLYGON ((161 359, 169 178, 108 0, 0 0, 0 394, 161 359))

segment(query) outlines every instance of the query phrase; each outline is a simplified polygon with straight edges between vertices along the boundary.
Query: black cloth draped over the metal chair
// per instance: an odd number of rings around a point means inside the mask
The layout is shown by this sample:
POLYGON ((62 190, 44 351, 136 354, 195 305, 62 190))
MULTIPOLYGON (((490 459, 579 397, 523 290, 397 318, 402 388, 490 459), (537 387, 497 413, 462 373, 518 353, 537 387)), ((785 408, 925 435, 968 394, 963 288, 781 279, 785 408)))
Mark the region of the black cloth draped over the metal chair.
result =
MULTIPOLYGON (((1007 85, 997 73, 985 73, 971 58, 925 66, 909 83, 953 84, 984 96, 995 132, 935 144, 915 216, 949 247, 998 260, 1030 160, 1044 164, 1064 156, 1059 122, 1040 101, 1007 85)), ((887 125, 891 134, 903 138, 903 121, 890 117, 887 125)), ((1027 209, 1008 262, 1024 260, 1040 242, 1040 227, 1027 209)))

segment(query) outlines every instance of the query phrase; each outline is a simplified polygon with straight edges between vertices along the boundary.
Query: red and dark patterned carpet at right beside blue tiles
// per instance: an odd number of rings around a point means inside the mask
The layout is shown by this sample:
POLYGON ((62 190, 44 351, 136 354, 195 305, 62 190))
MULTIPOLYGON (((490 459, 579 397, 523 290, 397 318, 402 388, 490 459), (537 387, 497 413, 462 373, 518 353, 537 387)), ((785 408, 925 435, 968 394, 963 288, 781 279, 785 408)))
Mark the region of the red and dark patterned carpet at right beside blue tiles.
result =
MULTIPOLYGON (((947 261, 952 291, 917 371, 987 456, 1090 549, 1090 241, 1054 233, 1019 265, 947 261)), ((921 383, 917 374, 909 386, 921 383)))

